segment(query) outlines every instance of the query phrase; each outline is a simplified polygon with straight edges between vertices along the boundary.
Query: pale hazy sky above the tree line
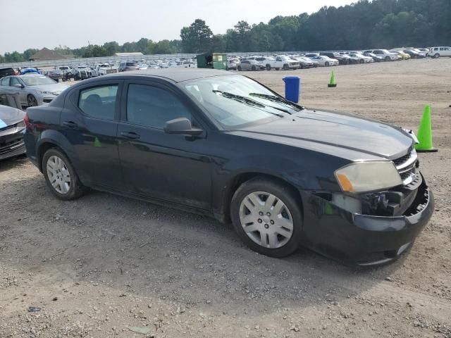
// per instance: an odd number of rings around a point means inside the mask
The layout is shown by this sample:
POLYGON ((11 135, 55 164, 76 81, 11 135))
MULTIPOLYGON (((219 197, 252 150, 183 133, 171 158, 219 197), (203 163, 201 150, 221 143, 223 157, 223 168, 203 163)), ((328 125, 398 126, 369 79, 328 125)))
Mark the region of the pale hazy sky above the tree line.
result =
POLYGON ((104 42, 180 39, 195 19, 223 34, 239 20, 267 23, 276 15, 312 13, 357 0, 0 0, 0 54, 28 48, 78 48, 104 42), (29 13, 29 14, 24 14, 29 13))

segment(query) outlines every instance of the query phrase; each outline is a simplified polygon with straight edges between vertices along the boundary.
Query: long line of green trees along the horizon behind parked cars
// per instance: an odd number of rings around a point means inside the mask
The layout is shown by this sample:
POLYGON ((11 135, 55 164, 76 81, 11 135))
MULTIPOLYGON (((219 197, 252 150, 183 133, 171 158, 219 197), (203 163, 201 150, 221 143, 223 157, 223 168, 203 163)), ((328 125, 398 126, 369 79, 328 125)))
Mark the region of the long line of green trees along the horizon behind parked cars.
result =
MULTIPOLYGON (((59 46, 74 57, 111 56, 117 52, 143 54, 205 51, 315 51, 327 49, 393 48, 451 44, 451 0, 359 0, 347 6, 324 6, 319 11, 276 16, 268 23, 239 21, 225 34, 214 34, 197 19, 180 30, 180 39, 154 42, 106 42, 79 49, 59 46)), ((35 49, 0 55, 0 63, 27 61, 35 49)))

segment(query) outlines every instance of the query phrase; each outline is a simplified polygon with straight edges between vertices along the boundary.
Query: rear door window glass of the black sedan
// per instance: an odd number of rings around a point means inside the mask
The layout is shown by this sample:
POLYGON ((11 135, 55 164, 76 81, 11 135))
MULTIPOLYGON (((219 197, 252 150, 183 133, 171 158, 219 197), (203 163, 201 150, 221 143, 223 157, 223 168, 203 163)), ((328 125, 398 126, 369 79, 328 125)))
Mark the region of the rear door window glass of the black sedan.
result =
POLYGON ((118 85, 94 87, 80 90, 78 107, 86 115, 104 120, 114 120, 118 85))

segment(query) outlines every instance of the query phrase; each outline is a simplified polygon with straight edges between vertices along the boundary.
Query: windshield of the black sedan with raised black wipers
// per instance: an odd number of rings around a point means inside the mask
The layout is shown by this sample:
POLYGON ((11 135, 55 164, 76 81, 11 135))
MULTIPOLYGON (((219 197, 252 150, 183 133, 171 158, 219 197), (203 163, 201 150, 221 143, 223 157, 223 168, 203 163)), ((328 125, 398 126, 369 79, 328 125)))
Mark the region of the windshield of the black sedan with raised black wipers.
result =
POLYGON ((180 86, 226 130, 278 119, 299 111, 283 101, 265 99, 264 96, 279 96, 241 75, 208 77, 183 82, 180 86))

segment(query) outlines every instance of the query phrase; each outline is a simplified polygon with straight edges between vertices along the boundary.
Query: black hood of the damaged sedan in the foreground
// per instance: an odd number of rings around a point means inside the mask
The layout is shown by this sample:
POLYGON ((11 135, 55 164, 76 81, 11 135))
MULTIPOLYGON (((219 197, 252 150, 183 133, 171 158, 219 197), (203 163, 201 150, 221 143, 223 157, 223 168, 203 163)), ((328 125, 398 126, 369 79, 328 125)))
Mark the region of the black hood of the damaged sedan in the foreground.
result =
POLYGON ((407 154, 413 144, 409 134, 400 127, 356 115, 308 109, 234 133, 323 151, 353 161, 393 160, 407 154))

